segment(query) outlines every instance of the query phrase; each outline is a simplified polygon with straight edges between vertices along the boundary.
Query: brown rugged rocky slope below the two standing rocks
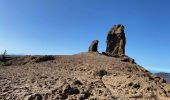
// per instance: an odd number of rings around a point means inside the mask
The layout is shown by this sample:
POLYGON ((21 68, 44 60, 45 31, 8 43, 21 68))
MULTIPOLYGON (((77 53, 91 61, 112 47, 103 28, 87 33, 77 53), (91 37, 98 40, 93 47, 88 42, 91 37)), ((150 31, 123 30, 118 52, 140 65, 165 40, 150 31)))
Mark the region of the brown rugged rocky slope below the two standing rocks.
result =
POLYGON ((98 53, 13 57, 0 64, 0 100, 170 100, 163 78, 98 53))

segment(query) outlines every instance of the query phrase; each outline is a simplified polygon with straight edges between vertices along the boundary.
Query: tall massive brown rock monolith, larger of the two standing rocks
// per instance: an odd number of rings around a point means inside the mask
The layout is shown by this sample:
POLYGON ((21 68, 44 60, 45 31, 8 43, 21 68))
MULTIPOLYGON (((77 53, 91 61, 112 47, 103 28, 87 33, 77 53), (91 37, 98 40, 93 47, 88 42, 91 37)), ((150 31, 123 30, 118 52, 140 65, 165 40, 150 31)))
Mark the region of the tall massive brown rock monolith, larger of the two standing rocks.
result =
POLYGON ((123 25, 115 25, 107 36, 106 54, 110 56, 125 55, 126 38, 123 25))

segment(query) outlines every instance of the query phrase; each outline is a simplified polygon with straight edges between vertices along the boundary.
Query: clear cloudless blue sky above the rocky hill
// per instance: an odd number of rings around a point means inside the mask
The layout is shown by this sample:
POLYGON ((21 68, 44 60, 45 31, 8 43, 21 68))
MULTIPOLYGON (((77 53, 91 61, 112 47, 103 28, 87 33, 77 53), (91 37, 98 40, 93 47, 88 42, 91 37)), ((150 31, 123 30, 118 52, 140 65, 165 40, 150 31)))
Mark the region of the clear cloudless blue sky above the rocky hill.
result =
POLYGON ((170 72, 170 0, 0 0, 0 53, 71 55, 125 26, 126 54, 151 71, 170 72))

